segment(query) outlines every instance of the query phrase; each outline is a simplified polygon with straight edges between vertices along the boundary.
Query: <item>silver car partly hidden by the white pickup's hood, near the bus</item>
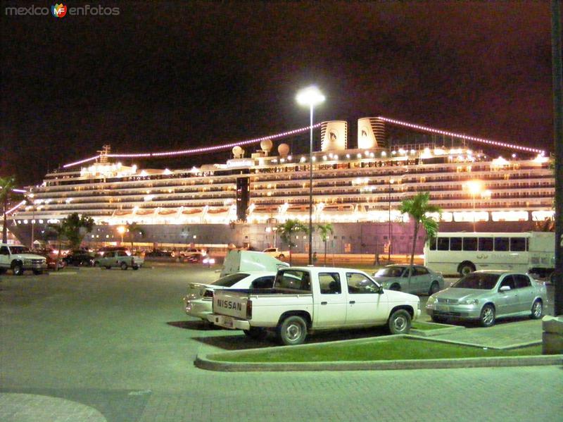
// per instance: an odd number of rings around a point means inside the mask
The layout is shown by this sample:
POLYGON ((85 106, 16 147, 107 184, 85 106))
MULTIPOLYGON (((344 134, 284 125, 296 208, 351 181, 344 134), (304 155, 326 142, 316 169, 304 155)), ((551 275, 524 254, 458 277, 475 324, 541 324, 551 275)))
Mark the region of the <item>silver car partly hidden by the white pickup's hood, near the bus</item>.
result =
POLYGON ((384 289, 407 293, 433 294, 444 288, 441 273, 422 265, 415 265, 409 283, 409 265, 388 265, 374 273, 374 280, 384 289))

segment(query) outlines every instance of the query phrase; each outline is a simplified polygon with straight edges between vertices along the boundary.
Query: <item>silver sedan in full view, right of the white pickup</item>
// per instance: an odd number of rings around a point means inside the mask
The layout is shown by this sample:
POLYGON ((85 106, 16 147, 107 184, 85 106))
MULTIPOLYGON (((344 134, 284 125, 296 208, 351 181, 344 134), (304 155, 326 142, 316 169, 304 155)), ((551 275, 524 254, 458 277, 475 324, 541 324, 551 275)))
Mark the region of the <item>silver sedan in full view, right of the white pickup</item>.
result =
POLYGON ((446 318, 478 320, 483 327, 490 327, 496 318, 505 316, 541 318, 547 297, 545 284, 527 274, 476 271, 432 294, 426 313, 435 322, 446 318))

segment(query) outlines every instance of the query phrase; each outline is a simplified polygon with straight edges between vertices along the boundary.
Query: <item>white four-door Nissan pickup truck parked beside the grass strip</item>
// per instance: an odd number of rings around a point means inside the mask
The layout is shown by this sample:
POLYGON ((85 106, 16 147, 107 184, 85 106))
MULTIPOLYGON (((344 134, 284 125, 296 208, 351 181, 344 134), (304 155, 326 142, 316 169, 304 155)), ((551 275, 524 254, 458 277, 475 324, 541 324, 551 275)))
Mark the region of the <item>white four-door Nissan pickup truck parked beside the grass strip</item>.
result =
POLYGON ((277 272, 271 290, 219 290, 208 321, 264 338, 275 331, 283 345, 299 345, 312 330, 387 325, 408 333, 420 316, 413 294, 384 290, 350 268, 290 267, 277 272))

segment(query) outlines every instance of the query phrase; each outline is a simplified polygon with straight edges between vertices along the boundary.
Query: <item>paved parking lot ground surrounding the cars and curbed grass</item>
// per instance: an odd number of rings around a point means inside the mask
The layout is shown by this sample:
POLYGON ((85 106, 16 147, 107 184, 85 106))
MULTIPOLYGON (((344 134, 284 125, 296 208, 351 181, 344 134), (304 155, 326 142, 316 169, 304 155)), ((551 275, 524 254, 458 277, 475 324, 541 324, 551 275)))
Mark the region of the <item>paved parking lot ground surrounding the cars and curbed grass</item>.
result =
POLYGON ((215 276, 213 268, 173 263, 2 275, 0 420, 64 414, 70 421, 560 420, 563 371, 553 366, 344 373, 195 368, 198 353, 277 347, 184 314, 187 283, 215 276))

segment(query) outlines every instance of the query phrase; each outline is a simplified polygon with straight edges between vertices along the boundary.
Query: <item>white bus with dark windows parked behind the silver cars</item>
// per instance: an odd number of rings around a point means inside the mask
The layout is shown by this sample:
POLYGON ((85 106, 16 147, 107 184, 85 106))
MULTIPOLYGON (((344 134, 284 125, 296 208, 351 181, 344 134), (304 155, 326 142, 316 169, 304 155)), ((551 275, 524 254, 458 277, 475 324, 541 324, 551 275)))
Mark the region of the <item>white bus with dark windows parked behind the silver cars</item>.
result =
POLYGON ((424 245, 424 265, 444 274, 509 270, 548 277, 555 268, 555 233, 442 232, 424 245))

